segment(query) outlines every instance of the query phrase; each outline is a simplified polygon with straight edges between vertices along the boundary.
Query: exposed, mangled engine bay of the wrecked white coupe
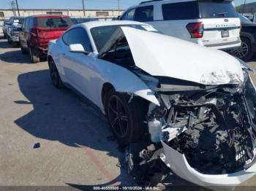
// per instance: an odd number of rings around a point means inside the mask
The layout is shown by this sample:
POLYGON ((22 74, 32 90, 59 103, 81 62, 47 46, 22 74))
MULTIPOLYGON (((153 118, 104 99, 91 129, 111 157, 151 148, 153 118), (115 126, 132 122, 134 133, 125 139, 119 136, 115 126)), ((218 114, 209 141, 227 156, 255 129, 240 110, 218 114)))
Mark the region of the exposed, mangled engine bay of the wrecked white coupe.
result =
POLYGON ((159 92, 162 106, 148 114, 151 140, 161 139, 184 154, 189 165, 201 174, 232 174, 247 169, 256 160, 255 106, 250 98, 253 96, 245 85, 159 92), (157 139, 159 127, 162 135, 157 139))

